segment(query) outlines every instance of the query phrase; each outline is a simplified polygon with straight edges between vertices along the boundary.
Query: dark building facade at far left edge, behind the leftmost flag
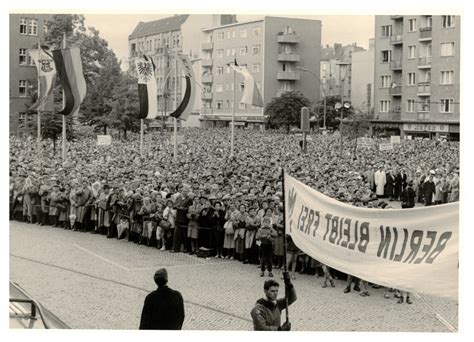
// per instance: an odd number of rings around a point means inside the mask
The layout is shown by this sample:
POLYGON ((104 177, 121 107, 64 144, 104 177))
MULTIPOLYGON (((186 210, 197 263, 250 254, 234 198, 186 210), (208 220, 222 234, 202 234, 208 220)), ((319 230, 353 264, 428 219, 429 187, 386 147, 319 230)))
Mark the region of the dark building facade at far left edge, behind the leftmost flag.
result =
POLYGON ((10 134, 24 132, 36 114, 26 114, 30 95, 37 87, 36 65, 27 50, 44 43, 47 14, 10 14, 10 134))

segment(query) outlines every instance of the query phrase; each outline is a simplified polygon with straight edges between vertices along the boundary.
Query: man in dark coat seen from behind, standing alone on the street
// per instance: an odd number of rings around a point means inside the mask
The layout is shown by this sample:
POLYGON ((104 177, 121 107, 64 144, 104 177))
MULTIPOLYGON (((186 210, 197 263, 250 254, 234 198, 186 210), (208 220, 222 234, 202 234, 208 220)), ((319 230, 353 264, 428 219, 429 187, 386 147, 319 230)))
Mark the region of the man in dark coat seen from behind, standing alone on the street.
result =
POLYGON ((184 322, 183 296, 167 286, 168 272, 156 271, 158 289, 148 294, 143 305, 140 330, 181 330, 184 322))

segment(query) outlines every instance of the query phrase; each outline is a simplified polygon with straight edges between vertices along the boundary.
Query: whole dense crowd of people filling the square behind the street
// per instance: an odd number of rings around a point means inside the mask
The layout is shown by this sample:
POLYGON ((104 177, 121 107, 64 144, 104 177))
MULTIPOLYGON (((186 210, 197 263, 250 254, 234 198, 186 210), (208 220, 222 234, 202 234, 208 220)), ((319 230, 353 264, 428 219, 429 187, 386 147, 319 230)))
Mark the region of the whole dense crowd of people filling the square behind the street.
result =
MULTIPOLYGON (((393 150, 357 148, 336 135, 299 138, 276 131, 237 130, 230 156, 228 129, 185 129, 173 158, 170 135, 97 146, 93 135, 68 143, 67 161, 44 142, 10 138, 10 217, 146 244, 160 251, 237 259, 260 275, 282 268, 282 168, 308 186, 354 206, 390 208, 459 200, 459 143, 402 140, 393 150)), ((335 270, 288 239, 294 272, 335 270)), ((332 273, 332 275, 331 275, 332 273)), ((350 288, 349 288, 350 289, 350 288)), ((346 288, 347 290, 347 288, 346 288)), ((366 290, 364 290, 366 291, 366 290)), ((365 293, 362 291, 361 293, 365 293)))

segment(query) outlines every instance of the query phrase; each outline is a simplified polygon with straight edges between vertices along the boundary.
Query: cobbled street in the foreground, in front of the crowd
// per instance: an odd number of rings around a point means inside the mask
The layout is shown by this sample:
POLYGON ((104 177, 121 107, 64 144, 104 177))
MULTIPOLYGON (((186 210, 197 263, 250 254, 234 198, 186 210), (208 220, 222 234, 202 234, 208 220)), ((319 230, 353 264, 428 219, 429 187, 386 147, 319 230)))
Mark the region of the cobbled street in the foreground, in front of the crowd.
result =
MULTIPOLYGON (((101 235, 10 222, 10 280, 19 283, 71 328, 137 329, 153 273, 166 267, 170 287, 185 299, 189 330, 252 330, 250 310, 263 295, 254 265, 158 251, 101 235)), ((275 272, 277 280, 281 271, 275 272)), ((322 278, 297 275, 290 307, 294 331, 450 332, 458 303, 414 295, 413 304, 321 288, 322 278)), ((283 291, 281 291, 283 292, 283 291)))

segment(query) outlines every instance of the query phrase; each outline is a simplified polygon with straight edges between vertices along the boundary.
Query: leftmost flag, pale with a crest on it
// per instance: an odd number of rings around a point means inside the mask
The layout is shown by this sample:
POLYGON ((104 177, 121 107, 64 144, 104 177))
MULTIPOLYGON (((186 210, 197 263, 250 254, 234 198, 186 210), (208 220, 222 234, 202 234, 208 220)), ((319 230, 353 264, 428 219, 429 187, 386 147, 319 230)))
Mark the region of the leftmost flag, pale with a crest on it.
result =
POLYGON ((56 68, 54 67, 53 56, 49 53, 48 47, 38 45, 37 49, 28 50, 30 58, 35 62, 38 70, 38 98, 29 108, 30 110, 44 111, 48 101, 53 94, 53 86, 56 81, 56 68))

